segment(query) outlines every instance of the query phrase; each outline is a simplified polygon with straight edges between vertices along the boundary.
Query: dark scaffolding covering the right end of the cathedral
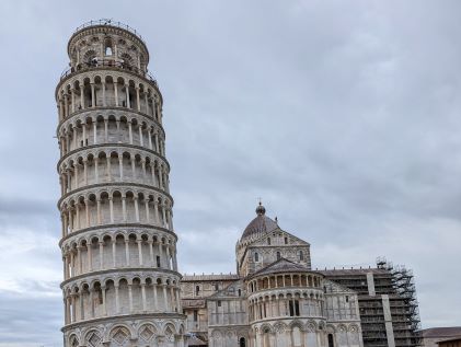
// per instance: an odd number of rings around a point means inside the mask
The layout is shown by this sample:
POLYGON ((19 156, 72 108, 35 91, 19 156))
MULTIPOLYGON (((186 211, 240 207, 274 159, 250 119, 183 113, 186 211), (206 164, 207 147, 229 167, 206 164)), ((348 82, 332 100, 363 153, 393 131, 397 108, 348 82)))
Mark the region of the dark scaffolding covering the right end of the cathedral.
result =
POLYGON ((389 346, 387 323, 390 321, 395 347, 422 345, 418 303, 411 270, 379 257, 374 268, 325 269, 322 273, 327 279, 357 292, 365 347, 389 346), (370 292, 367 280, 370 273, 374 292, 370 292), (389 298, 389 309, 388 300, 383 298, 389 298), (387 310, 391 313, 390 317, 387 310))

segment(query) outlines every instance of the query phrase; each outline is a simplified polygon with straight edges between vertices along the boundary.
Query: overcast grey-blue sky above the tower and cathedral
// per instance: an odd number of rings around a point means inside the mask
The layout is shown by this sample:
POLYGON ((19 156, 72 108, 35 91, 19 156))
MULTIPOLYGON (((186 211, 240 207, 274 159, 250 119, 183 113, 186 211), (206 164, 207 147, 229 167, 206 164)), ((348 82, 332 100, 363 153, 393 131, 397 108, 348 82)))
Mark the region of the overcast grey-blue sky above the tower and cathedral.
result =
POLYGON ((74 28, 136 27, 164 96, 183 273, 234 270, 257 198, 314 267, 414 269, 461 325, 461 2, 0 2, 0 347, 61 346, 54 90, 74 28), (136 5, 135 5, 136 3, 136 5))

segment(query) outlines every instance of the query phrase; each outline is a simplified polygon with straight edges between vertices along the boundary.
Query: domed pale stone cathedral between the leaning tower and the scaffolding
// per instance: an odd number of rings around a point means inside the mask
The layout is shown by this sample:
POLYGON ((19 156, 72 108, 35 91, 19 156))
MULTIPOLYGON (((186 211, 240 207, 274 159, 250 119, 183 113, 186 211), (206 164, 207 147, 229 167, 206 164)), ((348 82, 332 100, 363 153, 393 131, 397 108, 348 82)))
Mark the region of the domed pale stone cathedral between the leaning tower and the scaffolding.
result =
POLYGON ((310 244, 265 212, 237 243, 237 274, 183 277, 189 346, 364 346, 357 293, 312 270, 310 244))

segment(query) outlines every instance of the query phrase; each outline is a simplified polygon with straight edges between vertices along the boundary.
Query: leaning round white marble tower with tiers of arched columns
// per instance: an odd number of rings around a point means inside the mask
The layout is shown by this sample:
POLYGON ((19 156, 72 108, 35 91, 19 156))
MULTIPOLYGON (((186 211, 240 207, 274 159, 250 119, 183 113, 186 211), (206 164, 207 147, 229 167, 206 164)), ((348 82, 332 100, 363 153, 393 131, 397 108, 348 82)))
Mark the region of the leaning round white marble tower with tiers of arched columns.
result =
POLYGON ((56 88, 65 346, 185 346, 163 99, 131 27, 77 28, 56 88))

